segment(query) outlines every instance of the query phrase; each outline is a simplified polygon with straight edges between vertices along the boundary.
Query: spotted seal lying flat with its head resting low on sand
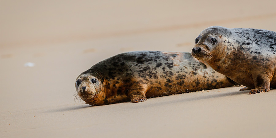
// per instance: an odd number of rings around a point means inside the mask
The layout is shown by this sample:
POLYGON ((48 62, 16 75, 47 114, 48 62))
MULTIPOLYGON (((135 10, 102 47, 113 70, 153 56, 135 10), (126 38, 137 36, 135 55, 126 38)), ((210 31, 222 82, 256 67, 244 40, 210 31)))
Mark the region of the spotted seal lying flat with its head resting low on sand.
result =
POLYGON ((90 105, 142 102, 147 98, 233 86, 191 53, 138 51, 105 59, 76 79, 77 94, 90 105))

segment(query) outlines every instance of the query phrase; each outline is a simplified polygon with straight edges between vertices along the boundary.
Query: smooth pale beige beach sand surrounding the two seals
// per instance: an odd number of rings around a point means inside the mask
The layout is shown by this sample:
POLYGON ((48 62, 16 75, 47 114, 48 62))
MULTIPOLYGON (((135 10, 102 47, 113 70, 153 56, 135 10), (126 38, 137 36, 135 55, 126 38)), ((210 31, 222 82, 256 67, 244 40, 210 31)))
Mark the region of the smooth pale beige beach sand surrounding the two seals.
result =
POLYGON ((128 51, 190 52, 205 28, 276 31, 275 0, 1 0, 1 137, 276 137, 276 90, 90 106, 75 79, 128 51), (24 67, 27 62, 34 67, 24 67))

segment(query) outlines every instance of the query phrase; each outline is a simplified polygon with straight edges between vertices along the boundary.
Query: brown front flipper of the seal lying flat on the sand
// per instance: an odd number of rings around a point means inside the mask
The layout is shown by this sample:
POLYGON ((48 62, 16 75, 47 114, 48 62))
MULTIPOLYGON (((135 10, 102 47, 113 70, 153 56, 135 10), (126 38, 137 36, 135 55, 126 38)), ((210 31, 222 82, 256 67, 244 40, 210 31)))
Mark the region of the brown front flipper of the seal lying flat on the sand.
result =
POLYGON ((144 102, 147 101, 146 89, 142 86, 132 86, 127 92, 131 102, 144 102))

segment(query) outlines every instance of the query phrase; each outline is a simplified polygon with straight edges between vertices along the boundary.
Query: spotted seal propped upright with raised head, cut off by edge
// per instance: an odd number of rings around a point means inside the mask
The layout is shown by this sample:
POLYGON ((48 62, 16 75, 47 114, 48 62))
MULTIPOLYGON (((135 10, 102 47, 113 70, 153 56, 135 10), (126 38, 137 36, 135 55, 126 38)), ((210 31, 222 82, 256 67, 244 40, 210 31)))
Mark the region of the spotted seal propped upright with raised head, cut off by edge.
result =
POLYGON ((276 87, 276 32, 212 26, 195 43, 192 55, 246 86, 241 90, 255 94, 276 87))

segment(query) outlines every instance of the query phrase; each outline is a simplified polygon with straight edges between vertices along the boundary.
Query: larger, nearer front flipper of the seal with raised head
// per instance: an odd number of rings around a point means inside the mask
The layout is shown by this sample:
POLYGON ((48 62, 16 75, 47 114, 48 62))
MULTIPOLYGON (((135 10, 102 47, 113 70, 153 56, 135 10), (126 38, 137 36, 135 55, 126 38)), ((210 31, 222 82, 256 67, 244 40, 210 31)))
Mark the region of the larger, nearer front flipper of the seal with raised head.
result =
POLYGON ((254 81, 255 89, 251 90, 249 94, 257 94, 267 92, 270 90, 270 79, 266 76, 258 75, 254 81))

